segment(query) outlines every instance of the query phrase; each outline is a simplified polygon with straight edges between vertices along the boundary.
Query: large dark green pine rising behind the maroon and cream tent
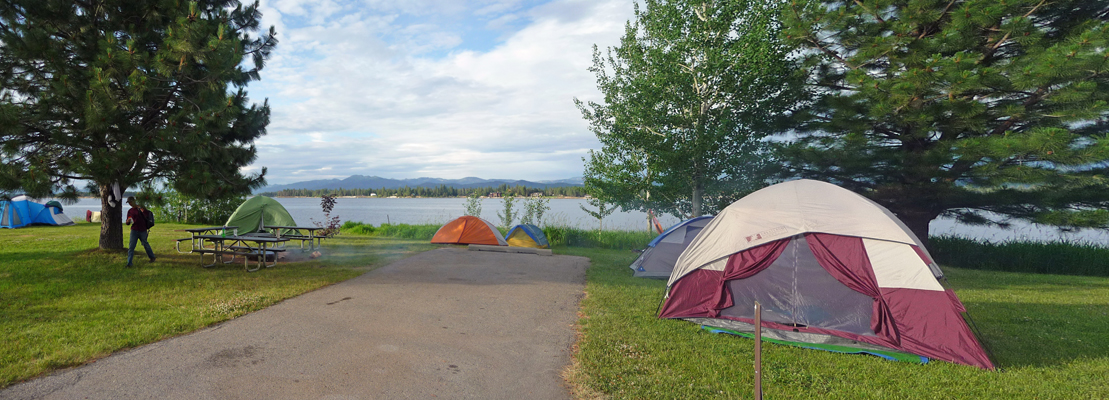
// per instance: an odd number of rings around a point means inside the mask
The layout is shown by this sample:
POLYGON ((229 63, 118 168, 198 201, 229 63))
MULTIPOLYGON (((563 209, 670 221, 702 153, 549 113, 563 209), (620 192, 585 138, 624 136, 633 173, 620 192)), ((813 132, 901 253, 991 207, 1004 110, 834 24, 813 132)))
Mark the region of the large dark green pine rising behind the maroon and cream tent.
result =
POLYGON ((1103 0, 794 1, 785 33, 816 98, 787 174, 925 240, 940 215, 1105 227, 1107 19, 1103 0))

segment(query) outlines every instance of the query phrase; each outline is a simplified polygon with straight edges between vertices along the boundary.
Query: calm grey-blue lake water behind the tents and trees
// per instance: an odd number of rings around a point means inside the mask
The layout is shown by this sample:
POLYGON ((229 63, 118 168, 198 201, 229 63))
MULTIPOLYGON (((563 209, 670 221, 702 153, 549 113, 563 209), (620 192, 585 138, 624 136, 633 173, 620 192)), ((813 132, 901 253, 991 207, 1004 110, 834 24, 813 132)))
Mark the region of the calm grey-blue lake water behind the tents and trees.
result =
MULTIPOLYGON (((313 219, 323 222, 324 213, 319 208, 319 198, 277 198, 277 202, 288 209, 297 224, 312 225, 313 219)), ((338 198, 332 214, 340 220, 356 220, 366 224, 445 224, 461 216, 466 211, 465 198, 338 198)), ((522 201, 517 201, 517 213, 523 209, 522 201)), ((580 206, 589 207, 584 199, 552 198, 551 209, 543 215, 548 225, 566 225, 578 228, 596 229, 597 218, 581 211, 580 206)), ((499 224, 497 213, 503 207, 499 198, 482 201, 481 217, 494 224, 499 224)), ((100 211, 100 199, 81 198, 77 204, 65 205, 65 215, 73 219, 84 219, 87 209, 100 211)), ((590 207, 592 208, 592 207, 590 207)), ((678 218, 662 215, 659 220, 663 227, 676 224, 678 218)), ((519 222, 519 217, 516 218, 519 222)), ((604 229, 635 230, 648 229, 647 214, 641 212, 615 212, 604 218, 604 229)), ((1004 242, 1009 239, 1036 242, 1072 242, 1109 244, 1109 233, 1101 229, 1082 229, 1072 233, 1060 233, 1058 229, 1027 223, 1014 223, 1009 229, 996 227, 967 226, 954 219, 939 218, 932 222, 930 235, 954 235, 968 238, 1004 242)))

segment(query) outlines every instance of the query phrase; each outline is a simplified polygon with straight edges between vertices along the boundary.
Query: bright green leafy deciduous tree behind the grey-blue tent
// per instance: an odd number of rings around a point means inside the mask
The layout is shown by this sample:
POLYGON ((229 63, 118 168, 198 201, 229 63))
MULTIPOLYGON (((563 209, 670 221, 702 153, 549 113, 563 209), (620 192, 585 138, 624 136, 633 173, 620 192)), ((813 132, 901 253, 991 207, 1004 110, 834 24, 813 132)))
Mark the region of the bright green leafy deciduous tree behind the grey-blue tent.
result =
POLYGON ((777 2, 642 4, 620 45, 593 49, 604 103, 574 100, 602 145, 584 160, 587 186, 623 208, 716 212, 765 185, 761 139, 795 103, 777 2))

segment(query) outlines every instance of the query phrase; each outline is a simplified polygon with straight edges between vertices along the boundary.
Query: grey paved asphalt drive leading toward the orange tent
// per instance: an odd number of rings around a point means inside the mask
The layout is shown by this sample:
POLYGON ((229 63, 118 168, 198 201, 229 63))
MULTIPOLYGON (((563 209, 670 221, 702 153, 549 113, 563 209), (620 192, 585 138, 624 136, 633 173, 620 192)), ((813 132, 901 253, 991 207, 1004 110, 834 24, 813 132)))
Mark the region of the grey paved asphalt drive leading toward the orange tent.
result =
POLYGON ((0 399, 569 399, 588 266, 431 250, 0 399))

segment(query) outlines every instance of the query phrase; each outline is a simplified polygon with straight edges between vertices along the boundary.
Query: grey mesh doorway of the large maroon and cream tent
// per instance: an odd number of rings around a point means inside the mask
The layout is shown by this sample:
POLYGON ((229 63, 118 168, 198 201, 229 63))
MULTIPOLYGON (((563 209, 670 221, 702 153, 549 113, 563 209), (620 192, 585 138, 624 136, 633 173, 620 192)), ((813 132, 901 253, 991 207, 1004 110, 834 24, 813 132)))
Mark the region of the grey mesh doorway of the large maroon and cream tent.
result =
POLYGON ((728 285, 735 302, 721 310, 721 316, 753 319, 759 301, 766 321, 875 336, 871 329, 874 299, 824 270, 802 235, 794 236, 770 267, 728 285))

